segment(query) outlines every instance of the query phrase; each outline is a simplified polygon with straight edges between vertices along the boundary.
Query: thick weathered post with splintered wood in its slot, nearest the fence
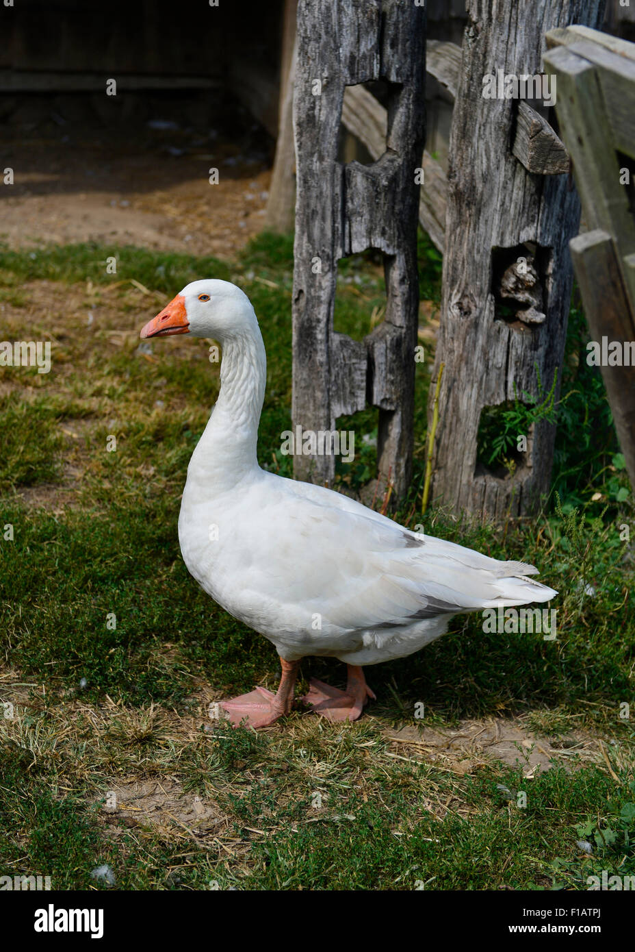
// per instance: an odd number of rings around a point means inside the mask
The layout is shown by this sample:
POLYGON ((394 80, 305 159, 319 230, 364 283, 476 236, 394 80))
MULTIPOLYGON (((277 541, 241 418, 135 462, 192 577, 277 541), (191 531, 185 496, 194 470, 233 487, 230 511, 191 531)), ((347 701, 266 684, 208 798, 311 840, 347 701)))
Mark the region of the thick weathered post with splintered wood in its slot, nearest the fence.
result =
POLYGON ((521 0, 468 0, 452 114, 433 500, 498 519, 531 512, 548 491, 555 427, 542 420, 518 434, 527 437, 527 450, 506 474, 477 464, 481 414, 515 393, 536 394, 536 367, 547 390, 560 374, 572 282, 568 241, 580 203, 568 175, 553 174, 566 167, 544 117, 518 98, 486 98, 485 77, 497 84, 498 70, 540 73, 545 32, 571 20, 595 26, 603 3, 535 6, 529 14, 521 0), (552 138, 553 148, 529 148, 531 129, 552 138))

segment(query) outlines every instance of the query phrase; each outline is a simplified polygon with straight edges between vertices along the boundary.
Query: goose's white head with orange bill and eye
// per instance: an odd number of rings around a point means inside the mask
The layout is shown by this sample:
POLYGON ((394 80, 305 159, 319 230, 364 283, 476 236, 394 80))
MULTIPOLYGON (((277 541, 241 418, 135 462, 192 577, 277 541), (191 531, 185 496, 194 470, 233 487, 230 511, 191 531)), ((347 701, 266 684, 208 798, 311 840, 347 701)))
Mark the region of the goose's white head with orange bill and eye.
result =
POLYGON ((140 336, 192 334, 215 341, 253 330, 256 315, 249 298, 229 281, 192 281, 142 327, 140 336))

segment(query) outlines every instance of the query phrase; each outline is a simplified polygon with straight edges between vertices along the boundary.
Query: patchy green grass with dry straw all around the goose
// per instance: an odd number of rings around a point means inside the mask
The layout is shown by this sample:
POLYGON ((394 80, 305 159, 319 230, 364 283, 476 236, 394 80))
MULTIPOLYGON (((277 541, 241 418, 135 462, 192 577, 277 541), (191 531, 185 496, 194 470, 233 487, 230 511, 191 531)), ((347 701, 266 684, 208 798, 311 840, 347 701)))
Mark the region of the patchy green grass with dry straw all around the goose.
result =
MULTIPOLYGON (((431 313, 440 260, 424 239, 419 256, 431 313)), ((50 374, 8 367, 0 379, 0 701, 13 714, 0 721, 0 874, 106 888, 90 875, 106 863, 118 888, 195 890, 584 889, 597 869, 632 874, 632 496, 609 419, 585 423, 585 407, 606 401, 575 358, 577 312, 558 499, 528 522, 458 525, 437 509, 424 526, 539 565, 561 593, 557 641, 457 617, 424 651, 371 670, 379 700, 357 724, 298 710, 255 735, 210 721, 222 696, 273 686, 277 658, 202 593, 179 551, 185 469, 218 394, 212 342, 140 349, 138 331, 192 278, 241 284, 268 354, 260 463, 290 475, 279 434, 291 424, 292 258, 291 240, 270 235, 229 263, 95 246, 0 255, 3 336, 29 327, 52 344, 50 374), (522 746, 513 765, 431 741, 433 730, 506 717, 543 739, 553 769, 532 772, 522 746), (414 734, 394 740, 402 728, 414 734), (163 805, 149 804, 150 788, 163 805)), ((345 263, 337 327, 363 337, 382 293, 373 255, 345 263)), ((429 374, 430 362, 417 365, 415 476, 398 513, 411 526, 429 374)), ((339 426, 355 427, 363 447, 338 470, 355 489, 375 466, 376 414, 339 426)), ((301 679, 342 674, 308 659, 301 679)))

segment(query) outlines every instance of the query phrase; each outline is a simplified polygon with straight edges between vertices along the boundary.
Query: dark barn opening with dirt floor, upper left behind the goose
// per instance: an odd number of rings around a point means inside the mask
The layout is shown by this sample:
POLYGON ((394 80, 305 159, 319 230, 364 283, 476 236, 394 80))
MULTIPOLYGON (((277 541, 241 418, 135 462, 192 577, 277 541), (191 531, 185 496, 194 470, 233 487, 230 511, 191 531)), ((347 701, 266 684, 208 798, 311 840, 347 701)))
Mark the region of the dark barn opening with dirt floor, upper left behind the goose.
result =
POLYGON ((268 195, 281 7, 0 8, 0 240, 241 248, 268 195))

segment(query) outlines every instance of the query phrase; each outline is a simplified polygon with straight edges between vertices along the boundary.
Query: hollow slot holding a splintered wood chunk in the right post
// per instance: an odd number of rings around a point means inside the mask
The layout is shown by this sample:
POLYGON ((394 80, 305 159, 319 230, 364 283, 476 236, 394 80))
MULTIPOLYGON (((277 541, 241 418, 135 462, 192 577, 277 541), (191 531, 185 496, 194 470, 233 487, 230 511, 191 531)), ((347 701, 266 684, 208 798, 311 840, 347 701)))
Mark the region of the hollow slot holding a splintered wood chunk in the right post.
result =
POLYGON ((491 249, 491 293, 494 320, 527 332, 545 323, 549 248, 526 242, 491 249))

